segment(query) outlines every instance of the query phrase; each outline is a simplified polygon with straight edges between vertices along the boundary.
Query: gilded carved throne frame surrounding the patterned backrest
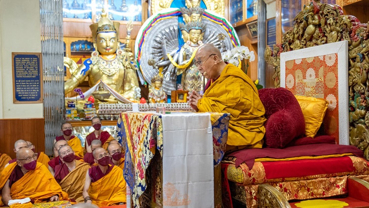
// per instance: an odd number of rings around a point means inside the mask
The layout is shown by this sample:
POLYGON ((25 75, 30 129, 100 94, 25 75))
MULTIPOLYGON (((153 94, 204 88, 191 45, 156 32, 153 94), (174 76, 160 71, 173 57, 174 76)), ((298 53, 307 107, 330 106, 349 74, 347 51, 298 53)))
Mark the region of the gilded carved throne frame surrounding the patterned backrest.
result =
POLYGON ((286 31, 282 43, 267 46, 265 60, 274 67, 274 83, 280 86, 280 53, 307 47, 348 41, 350 144, 364 151, 369 159, 369 22, 343 15, 336 4, 313 0, 294 19, 293 29, 286 31))

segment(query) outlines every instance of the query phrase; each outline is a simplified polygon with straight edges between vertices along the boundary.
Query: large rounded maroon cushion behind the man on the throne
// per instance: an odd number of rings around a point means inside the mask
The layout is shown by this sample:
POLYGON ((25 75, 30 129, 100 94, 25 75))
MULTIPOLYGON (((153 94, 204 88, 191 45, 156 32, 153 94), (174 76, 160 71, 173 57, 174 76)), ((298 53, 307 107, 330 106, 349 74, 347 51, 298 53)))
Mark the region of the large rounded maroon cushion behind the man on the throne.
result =
POLYGON ((303 111, 295 96, 285 88, 259 90, 265 107, 265 144, 270 148, 284 148, 294 138, 305 133, 303 111))

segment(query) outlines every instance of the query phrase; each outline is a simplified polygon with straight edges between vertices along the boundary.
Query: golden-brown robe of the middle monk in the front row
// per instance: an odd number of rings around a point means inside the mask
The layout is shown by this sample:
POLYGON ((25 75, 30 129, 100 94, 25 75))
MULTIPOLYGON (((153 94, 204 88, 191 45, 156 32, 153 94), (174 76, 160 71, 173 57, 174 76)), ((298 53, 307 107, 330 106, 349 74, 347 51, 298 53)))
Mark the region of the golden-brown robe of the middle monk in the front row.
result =
POLYGON ((84 202, 82 192, 86 181, 86 172, 89 168, 89 163, 76 160, 76 168, 60 182, 62 190, 68 193, 69 198, 76 200, 77 203, 84 202))

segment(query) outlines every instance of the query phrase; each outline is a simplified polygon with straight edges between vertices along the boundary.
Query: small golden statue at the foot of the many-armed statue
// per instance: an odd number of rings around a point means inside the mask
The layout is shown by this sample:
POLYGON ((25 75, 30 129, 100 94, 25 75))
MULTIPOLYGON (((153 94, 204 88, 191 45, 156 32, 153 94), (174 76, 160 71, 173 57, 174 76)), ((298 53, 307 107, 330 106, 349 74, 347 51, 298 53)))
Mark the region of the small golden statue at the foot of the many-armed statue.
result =
POLYGON ((166 103, 166 94, 161 88, 163 77, 158 73, 152 80, 149 88, 149 103, 166 103))

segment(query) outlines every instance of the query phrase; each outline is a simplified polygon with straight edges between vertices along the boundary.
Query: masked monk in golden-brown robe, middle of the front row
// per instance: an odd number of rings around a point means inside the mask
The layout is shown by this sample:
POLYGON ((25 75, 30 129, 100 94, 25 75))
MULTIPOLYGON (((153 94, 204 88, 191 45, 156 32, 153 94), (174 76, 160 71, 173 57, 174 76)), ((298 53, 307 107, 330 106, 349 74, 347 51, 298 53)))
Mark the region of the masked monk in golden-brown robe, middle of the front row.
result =
POLYGON ((70 199, 74 199, 77 203, 83 202, 83 186, 90 165, 75 159, 76 156, 68 145, 62 146, 58 154, 63 164, 55 167, 55 180, 60 184, 62 190, 68 193, 70 199))

